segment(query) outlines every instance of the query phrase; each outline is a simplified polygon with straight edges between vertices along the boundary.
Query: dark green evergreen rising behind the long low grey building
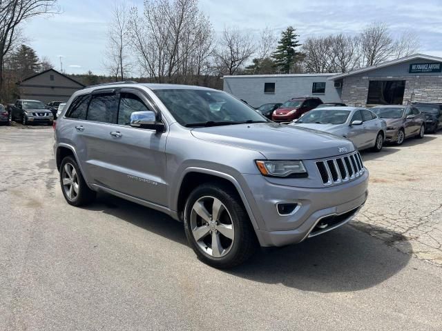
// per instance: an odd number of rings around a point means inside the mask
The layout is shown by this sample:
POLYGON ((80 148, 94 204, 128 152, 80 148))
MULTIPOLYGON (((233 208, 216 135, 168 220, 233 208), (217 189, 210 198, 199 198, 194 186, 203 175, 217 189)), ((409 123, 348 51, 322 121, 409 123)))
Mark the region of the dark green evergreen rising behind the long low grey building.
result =
POLYGON ((295 29, 292 26, 289 26, 281 33, 281 39, 278 41, 278 47, 276 47, 272 57, 276 68, 283 74, 290 73, 297 57, 300 55, 300 52, 296 52, 296 48, 301 46, 298 43, 298 37, 299 35, 295 33, 295 29))

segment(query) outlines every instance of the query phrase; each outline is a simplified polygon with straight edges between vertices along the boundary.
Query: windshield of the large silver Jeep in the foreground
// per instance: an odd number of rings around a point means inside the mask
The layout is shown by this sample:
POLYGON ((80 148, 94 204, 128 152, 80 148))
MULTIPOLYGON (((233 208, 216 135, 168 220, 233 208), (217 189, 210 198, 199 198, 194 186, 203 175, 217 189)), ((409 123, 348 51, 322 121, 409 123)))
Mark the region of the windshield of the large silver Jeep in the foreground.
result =
POLYGON ((230 94, 213 90, 154 90, 182 126, 225 126, 268 122, 261 114, 230 94))

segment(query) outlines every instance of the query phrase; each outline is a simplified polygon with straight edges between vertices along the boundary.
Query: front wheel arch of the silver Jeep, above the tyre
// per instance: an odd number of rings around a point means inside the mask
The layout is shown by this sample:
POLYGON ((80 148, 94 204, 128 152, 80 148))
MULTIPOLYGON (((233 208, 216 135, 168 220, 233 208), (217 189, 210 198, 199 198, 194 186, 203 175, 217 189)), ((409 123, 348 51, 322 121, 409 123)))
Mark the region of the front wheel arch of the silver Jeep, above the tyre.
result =
POLYGON ((179 185, 180 189, 178 190, 174 208, 175 210, 177 210, 177 215, 180 220, 184 219, 183 213, 187 197, 189 197, 189 194, 192 192, 192 190, 194 190, 199 185, 202 185, 203 183, 222 183, 223 185, 228 185, 230 188, 235 190, 238 193, 242 204, 244 205, 244 208, 249 216, 253 228, 256 230, 259 229, 258 223, 253 216, 253 212, 240 186, 240 183, 238 183, 238 181, 230 174, 204 168, 187 168, 182 175, 182 179, 179 185))

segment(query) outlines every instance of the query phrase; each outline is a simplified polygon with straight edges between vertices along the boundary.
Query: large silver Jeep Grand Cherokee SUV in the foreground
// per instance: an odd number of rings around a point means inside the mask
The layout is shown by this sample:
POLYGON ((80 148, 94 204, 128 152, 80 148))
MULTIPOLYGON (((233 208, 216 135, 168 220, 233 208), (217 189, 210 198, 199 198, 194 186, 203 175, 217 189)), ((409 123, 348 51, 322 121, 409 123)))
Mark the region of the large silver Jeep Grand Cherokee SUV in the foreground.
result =
POLYGON ((368 172, 351 141, 273 123, 210 88, 113 83, 75 92, 55 126, 70 205, 98 191, 184 223, 217 268, 261 246, 299 243, 352 219, 368 172))

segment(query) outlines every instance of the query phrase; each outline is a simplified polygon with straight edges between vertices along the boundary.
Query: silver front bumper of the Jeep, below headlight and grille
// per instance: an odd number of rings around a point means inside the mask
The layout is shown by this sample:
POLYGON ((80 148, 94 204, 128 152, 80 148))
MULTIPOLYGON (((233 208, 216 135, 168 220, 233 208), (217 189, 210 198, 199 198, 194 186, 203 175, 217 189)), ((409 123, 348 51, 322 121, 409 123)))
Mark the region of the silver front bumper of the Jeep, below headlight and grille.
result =
POLYGON ((256 234, 264 247, 299 243, 338 228, 354 217, 368 196, 367 170, 352 182, 327 188, 275 185, 255 174, 244 177, 253 192, 253 214, 261 221, 256 234), (298 203, 300 208, 282 216, 278 203, 298 203))

